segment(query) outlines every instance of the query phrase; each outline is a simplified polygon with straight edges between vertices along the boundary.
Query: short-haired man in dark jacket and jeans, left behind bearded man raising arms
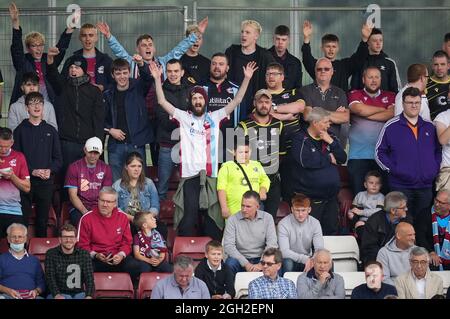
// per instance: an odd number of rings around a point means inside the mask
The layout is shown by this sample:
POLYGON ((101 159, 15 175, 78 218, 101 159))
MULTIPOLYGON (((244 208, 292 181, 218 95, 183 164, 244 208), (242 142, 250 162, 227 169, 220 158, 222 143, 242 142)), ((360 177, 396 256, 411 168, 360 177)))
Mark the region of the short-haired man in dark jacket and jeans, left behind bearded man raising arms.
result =
MULTIPOLYGON (((171 59, 166 64, 167 79, 163 83, 166 99, 180 110, 187 110, 189 90, 193 82, 184 77, 184 69, 180 60, 171 59)), ((169 114, 160 106, 156 107, 158 128, 156 141, 159 143, 158 154, 158 195, 159 199, 166 199, 169 189, 169 179, 175 163, 171 153, 178 139, 172 140, 172 132, 178 125, 169 118, 169 114)))

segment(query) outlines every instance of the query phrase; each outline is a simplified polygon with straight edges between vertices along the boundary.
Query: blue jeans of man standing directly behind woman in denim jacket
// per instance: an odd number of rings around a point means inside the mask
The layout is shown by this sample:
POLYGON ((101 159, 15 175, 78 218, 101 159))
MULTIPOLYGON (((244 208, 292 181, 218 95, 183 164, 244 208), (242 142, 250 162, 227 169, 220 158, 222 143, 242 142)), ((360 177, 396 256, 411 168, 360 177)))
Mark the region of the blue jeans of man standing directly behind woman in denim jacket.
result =
MULTIPOLYGON (((122 144, 122 143, 112 143, 108 142, 108 162, 109 166, 111 166, 111 170, 113 173, 113 182, 117 181, 122 177, 122 170, 125 166, 125 161, 127 156, 131 152, 138 152, 141 154, 144 159, 144 165, 146 163, 145 159, 145 146, 135 147, 132 144, 122 144)), ((145 167, 142 169, 145 170, 145 167)))

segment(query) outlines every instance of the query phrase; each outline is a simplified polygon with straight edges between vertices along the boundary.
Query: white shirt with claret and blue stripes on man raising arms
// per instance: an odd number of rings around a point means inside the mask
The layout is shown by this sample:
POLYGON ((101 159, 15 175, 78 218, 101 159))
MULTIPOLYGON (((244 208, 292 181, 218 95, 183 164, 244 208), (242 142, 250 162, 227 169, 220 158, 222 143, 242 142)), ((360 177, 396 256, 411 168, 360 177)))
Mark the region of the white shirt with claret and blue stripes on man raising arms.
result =
POLYGON ((223 108, 200 117, 175 109, 173 119, 180 124, 181 177, 195 176, 201 170, 217 177, 220 122, 226 117, 223 108))

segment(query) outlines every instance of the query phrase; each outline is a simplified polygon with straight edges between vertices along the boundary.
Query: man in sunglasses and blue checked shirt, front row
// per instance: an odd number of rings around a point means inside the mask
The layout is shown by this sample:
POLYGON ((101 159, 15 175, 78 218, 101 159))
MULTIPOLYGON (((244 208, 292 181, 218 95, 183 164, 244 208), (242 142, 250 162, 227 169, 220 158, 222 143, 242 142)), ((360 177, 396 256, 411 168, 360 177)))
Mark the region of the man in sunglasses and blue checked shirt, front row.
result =
POLYGON ((290 279, 279 275, 281 269, 281 251, 278 248, 267 248, 260 264, 263 276, 248 285, 248 299, 297 299, 295 284, 290 279))

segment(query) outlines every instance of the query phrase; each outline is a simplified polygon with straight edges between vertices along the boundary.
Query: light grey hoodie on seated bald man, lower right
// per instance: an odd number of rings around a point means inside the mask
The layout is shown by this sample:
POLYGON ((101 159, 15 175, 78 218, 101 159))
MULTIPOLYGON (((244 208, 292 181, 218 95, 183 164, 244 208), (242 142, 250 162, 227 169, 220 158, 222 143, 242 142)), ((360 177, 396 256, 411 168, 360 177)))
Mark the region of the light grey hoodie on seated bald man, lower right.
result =
POLYGON ((413 245, 406 250, 397 247, 395 236, 378 251, 377 261, 383 265, 384 279, 383 282, 395 285, 394 279, 410 271, 409 253, 416 247, 413 245))

